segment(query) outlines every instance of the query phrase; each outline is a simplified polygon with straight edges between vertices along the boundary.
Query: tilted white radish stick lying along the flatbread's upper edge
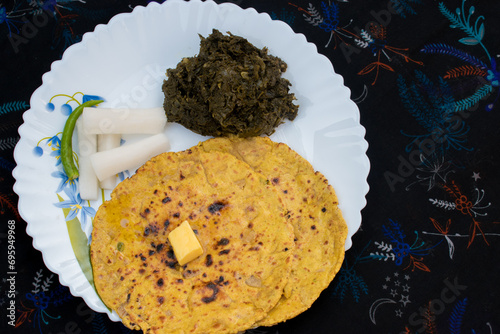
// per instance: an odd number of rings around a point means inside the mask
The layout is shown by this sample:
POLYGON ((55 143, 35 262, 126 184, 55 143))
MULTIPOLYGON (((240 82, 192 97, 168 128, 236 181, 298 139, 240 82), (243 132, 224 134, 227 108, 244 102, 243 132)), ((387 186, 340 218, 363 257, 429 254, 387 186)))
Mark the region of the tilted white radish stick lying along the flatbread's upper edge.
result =
POLYGON ((125 144, 111 150, 96 152, 90 156, 92 166, 99 180, 125 170, 143 165, 152 157, 170 149, 170 143, 164 133, 125 144))

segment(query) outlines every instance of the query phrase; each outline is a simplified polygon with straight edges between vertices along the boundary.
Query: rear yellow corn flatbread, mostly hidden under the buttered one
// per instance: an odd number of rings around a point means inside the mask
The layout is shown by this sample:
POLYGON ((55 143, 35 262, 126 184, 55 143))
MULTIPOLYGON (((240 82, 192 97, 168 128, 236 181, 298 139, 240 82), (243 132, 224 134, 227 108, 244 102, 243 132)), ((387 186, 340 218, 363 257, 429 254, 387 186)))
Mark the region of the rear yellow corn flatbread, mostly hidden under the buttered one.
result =
POLYGON ((267 137, 215 138, 199 145, 245 161, 283 196, 295 233, 296 263, 283 297, 258 324, 271 326, 297 316, 328 287, 344 260, 347 225, 335 191, 307 160, 267 137))

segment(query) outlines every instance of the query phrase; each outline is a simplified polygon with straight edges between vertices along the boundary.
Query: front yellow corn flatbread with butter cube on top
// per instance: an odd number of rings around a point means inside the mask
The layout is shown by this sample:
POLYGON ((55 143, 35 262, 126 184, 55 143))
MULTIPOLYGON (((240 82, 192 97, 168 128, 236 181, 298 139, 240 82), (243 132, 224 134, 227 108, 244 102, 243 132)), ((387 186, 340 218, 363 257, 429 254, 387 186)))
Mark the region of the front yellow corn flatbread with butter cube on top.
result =
POLYGON ((94 219, 96 289, 145 333, 236 333, 267 316, 288 282, 293 228, 277 189, 228 153, 159 155, 94 219), (180 266, 168 234, 187 220, 204 253, 180 266))

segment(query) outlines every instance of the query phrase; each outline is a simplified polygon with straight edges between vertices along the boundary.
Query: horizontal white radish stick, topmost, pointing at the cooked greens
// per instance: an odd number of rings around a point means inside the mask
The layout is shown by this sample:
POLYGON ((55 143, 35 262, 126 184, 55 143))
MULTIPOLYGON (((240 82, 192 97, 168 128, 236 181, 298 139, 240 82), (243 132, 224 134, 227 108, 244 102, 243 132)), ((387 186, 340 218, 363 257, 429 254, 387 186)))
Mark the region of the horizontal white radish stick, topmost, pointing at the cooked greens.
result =
POLYGON ((95 134, 157 134, 167 117, 163 108, 84 108, 85 131, 95 134))

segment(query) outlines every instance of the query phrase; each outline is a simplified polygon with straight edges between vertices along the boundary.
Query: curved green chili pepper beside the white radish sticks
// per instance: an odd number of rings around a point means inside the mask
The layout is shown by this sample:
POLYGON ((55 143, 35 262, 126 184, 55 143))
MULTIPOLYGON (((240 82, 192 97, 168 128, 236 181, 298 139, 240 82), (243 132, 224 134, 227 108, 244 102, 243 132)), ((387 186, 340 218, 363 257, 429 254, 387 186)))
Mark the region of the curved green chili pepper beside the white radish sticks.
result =
POLYGON ((101 102, 103 102, 103 100, 90 100, 82 103, 73 110, 66 120, 66 124, 64 124, 61 138, 61 163, 70 180, 76 179, 79 175, 78 167, 76 167, 75 161, 73 160, 73 131, 75 130, 76 121, 82 114, 83 108, 93 107, 101 102))

